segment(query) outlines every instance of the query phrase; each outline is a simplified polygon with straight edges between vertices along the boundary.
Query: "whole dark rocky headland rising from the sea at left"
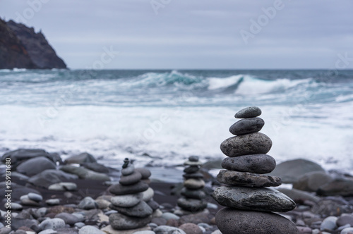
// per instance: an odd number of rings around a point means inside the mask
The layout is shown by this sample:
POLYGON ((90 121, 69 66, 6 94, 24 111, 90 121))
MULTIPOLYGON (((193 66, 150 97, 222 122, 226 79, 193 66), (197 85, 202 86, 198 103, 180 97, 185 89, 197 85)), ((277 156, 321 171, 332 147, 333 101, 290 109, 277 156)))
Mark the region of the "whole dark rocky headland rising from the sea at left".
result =
POLYGON ((0 19, 0 69, 66 68, 42 32, 0 19))

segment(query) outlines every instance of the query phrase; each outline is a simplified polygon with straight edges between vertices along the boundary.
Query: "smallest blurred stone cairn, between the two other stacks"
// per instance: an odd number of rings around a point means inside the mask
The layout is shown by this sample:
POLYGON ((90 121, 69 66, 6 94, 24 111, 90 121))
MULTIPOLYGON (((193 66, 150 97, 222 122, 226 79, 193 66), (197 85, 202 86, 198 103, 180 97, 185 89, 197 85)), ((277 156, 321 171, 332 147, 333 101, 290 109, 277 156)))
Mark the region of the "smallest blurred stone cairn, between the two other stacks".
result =
POLYGON ((184 162, 187 167, 184 169, 184 187, 181 189, 181 195, 177 204, 184 211, 203 211, 207 207, 207 202, 203 199, 206 197, 203 187, 203 174, 200 173, 201 161, 198 156, 190 156, 189 160, 184 162))

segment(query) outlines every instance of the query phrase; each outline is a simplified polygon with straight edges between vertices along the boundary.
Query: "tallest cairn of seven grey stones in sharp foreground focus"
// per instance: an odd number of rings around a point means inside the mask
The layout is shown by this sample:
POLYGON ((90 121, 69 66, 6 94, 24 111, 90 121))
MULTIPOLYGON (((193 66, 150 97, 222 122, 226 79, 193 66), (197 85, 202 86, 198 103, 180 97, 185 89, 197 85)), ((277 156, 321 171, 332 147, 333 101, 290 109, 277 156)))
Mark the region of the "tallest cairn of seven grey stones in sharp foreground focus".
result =
POLYGON ((298 233, 287 218, 272 212, 290 211, 296 207, 289 197, 268 188, 279 186, 282 180, 265 176, 275 169, 276 161, 267 153, 272 147, 270 138, 258 131, 265 122, 257 116, 261 109, 251 106, 235 114, 243 118, 234 123, 230 137, 220 145, 228 157, 222 161, 217 180, 227 186, 217 187, 213 198, 226 208, 216 214, 216 223, 223 234, 298 233))

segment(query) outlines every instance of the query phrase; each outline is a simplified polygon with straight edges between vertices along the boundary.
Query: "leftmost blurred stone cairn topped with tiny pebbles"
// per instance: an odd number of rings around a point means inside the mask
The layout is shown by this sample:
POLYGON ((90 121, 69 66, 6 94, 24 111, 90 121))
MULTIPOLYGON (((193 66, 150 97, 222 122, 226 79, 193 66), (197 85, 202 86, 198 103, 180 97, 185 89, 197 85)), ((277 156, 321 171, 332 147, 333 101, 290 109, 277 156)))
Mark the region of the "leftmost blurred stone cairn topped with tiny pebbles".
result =
POLYGON ((109 192, 114 195, 109 208, 118 211, 109 216, 112 228, 133 230, 150 223, 153 211, 158 208, 152 199, 152 188, 143 182, 150 175, 148 169, 135 168, 128 159, 124 159, 119 183, 109 187, 109 192))

